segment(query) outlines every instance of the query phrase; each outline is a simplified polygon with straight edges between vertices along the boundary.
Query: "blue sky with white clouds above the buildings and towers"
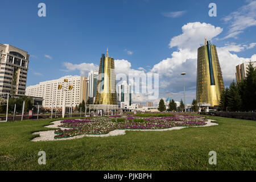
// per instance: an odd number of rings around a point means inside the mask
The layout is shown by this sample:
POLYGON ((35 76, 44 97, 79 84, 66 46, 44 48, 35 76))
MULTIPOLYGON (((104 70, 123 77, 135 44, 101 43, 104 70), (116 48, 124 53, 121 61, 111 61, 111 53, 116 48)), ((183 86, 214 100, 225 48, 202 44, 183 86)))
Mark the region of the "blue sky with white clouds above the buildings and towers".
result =
MULTIPOLYGON (((225 86, 235 79, 236 64, 256 58, 255 1, 2 0, 1 7, 0 43, 31 55, 27 86, 66 75, 87 76, 108 47, 117 69, 127 65, 125 72, 159 73, 159 98, 171 92, 179 101, 179 73, 187 72, 191 103, 196 49, 205 35, 217 46, 225 86), (46 17, 38 16, 40 2, 46 4, 46 17), (216 17, 208 15, 211 2, 217 5, 216 17)), ((134 96, 134 101, 145 100, 142 94, 134 96)))

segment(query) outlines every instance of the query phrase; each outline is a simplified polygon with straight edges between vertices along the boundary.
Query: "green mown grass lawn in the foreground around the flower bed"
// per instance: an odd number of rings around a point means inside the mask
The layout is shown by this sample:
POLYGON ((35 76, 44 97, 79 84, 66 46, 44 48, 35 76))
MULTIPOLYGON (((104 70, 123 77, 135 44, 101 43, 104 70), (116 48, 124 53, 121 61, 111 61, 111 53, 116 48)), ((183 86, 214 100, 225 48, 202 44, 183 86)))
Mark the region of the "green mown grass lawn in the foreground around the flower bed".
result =
POLYGON ((50 120, 0 123, 0 170, 255 170, 256 122, 209 118, 219 125, 52 142, 30 141, 50 120), (217 165, 208 163, 212 150, 217 165))

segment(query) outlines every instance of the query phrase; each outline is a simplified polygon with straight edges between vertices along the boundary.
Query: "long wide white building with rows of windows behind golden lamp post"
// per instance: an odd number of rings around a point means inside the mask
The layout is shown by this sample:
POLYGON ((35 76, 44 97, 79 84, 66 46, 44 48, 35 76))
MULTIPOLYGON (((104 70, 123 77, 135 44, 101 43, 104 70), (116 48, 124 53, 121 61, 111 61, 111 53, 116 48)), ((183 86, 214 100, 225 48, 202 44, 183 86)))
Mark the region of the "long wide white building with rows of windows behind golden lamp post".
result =
POLYGON ((57 80, 43 81, 37 85, 28 86, 26 88, 26 96, 43 97, 43 107, 45 108, 50 108, 52 106, 52 102, 53 107, 62 107, 64 88, 58 90, 58 85, 73 85, 73 89, 66 92, 65 105, 67 107, 71 105, 75 107, 76 105, 79 105, 82 100, 86 102, 86 80, 86 77, 72 76, 59 78, 57 80), (68 82, 64 82, 65 78, 68 79, 68 82))

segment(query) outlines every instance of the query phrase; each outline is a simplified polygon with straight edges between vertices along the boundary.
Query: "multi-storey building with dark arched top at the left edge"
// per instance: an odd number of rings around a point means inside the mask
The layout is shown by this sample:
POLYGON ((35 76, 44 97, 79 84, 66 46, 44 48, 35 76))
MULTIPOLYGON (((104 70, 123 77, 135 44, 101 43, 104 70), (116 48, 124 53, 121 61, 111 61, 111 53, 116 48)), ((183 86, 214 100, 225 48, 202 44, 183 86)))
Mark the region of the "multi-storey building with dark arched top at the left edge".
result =
POLYGON ((0 44, 0 93, 25 94, 29 57, 27 51, 0 44))

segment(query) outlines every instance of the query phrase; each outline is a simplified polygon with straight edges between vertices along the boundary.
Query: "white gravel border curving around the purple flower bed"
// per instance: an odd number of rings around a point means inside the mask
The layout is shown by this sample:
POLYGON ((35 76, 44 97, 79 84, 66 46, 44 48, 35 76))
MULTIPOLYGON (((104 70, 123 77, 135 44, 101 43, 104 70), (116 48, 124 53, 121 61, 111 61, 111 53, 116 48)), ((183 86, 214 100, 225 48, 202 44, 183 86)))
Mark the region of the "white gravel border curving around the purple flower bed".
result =
MULTIPOLYGON (((208 121, 206 122, 207 123, 206 125, 192 126, 192 127, 207 127, 207 126, 216 126, 216 125, 218 125, 218 123, 212 123, 212 121, 215 121, 215 120, 208 119, 208 121)), ((64 127, 58 127, 59 125, 61 125, 60 122, 61 121, 54 121, 54 122, 52 122, 53 125, 48 125, 48 126, 45 126, 45 127, 56 128, 56 129, 61 129, 61 130, 67 129, 67 128, 64 128, 64 127)), ((33 134, 39 134, 40 137, 36 137, 36 138, 32 139, 31 141, 32 142, 39 142, 39 141, 71 140, 71 139, 82 138, 82 137, 110 137, 110 136, 125 135, 125 131, 171 131, 171 130, 184 129, 185 127, 189 127, 189 126, 175 126, 175 127, 171 127, 170 129, 157 129, 157 130, 139 130, 139 129, 138 130, 129 130, 129 129, 113 130, 113 131, 110 131, 108 134, 103 134, 103 135, 78 135, 78 136, 75 136, 75 137, 58 138, 58 139, 54 138, 54 136, 55 136, 54 130, 50 130, 50 131, 39 131, 39 132, 33 133, 33 134)))

